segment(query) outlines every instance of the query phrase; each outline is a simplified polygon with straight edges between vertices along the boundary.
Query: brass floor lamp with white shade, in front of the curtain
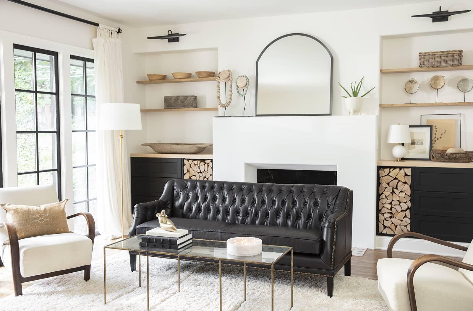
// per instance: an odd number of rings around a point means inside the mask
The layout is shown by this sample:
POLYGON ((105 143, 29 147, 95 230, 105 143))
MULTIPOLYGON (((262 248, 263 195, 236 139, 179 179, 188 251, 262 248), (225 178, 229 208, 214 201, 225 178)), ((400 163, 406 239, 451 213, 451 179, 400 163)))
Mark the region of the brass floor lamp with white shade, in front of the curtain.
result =
POLYGON ((100 104, 100 130, 120 130, 120 188, 122 193, 122 238, 123 234, 123 131, 141 129, 140 104, 104 103, 100 104))

